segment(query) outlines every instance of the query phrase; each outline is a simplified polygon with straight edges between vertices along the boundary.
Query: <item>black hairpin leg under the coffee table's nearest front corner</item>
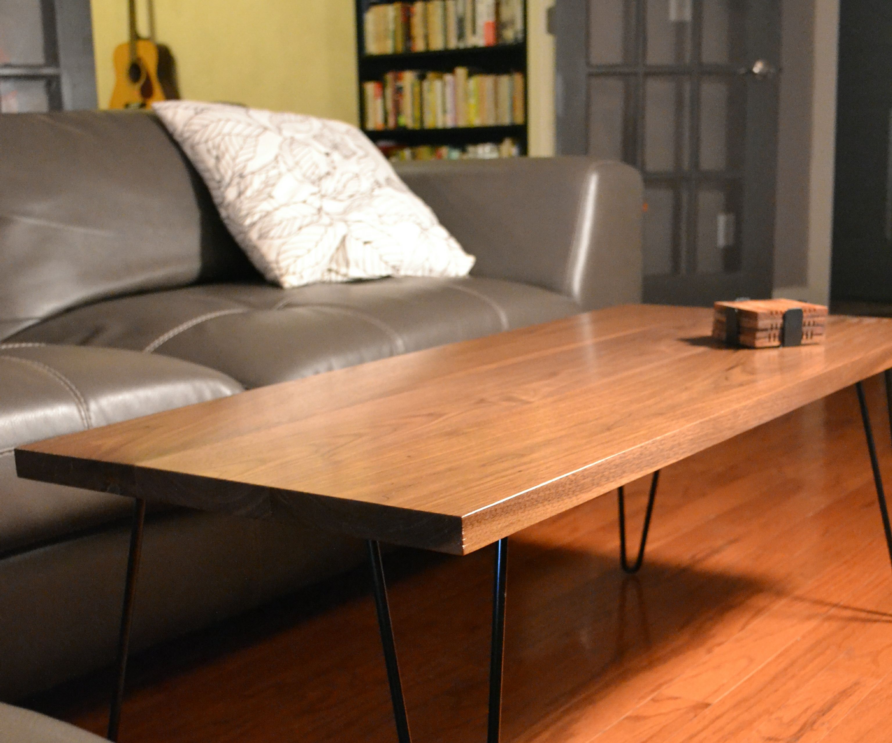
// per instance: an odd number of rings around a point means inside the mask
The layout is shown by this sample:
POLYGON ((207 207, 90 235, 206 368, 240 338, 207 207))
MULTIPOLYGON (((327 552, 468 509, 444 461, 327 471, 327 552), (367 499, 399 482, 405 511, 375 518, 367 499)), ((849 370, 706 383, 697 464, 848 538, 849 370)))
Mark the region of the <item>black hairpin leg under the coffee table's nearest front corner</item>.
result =
MULTIPOLYGON (((368 556, 372 566, 372 586, 375 591, 375 607, 378 614, 378 629, 381 630, 381 645, 384 647, 384 664, 387 667, 387 681, 390 684, 393 720, 400 743, 410 743, 409 718, 406 716, 406 701, 402 695, 400 666, 393 643, 393 627, 390 607, 387 604, 387 586, 384 583, 384 564, 381 561, 381 547, 368 540, 368 556)), ((487 719, 487 743, 499 743, 501 725, 501 683, 502 658, 505 647, 505 597, 508 575, 508 538, 496 543, 495 576, 492 589, 492 644, 490 649, 490 706, 487 719)))

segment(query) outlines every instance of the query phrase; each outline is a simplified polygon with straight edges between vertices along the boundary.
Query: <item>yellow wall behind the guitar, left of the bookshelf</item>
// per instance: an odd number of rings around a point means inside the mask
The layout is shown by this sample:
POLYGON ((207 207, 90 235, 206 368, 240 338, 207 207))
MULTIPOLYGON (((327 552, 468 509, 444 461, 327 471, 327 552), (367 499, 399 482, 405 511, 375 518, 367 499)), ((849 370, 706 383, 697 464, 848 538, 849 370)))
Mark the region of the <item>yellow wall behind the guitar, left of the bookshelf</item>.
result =
MULTIPOLYGON (((124 0, 91 0, 100 104, 111 52, 127 39, 124 0)), ((146 0, 137 0, 146 33, 146 0)), ((184 98, 358 121, 352 0, 154 0, 157 40, 184 98)))

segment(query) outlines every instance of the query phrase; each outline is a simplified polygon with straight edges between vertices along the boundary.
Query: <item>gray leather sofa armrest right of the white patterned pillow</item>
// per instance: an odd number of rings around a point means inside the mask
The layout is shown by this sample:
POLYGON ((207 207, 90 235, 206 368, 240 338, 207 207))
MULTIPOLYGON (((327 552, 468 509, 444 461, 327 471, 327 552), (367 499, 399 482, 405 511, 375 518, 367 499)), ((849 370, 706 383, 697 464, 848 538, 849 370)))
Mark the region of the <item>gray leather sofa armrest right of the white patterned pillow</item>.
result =
POLYGON ((632 167, 524 157, 397 171, 476 255, 473 274, 548 288, 586 310, 640 302, 643 188, 632 167))

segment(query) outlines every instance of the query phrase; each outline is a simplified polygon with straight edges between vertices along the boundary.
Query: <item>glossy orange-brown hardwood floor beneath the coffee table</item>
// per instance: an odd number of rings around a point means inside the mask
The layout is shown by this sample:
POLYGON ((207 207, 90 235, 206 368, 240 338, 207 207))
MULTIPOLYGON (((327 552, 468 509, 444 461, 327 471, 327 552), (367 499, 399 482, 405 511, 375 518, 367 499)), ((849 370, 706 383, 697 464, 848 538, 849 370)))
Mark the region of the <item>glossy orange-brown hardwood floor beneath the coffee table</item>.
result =
MULTIPOLYGON (((892 485, 879 380, 868 395, 892 485)), ((892 739, 892 571, 854 390, 667 468, 638 576, 617 549, 613 495, 511 539, 504 740, 892 739)), ((385 557, 418 743, 485 739, 491 558, 385 557)), ((365 570, 142 655, 131 680, 124 743, 395 739, 365 570)), ((32 706, 101 732, 106 682, 32 706)))

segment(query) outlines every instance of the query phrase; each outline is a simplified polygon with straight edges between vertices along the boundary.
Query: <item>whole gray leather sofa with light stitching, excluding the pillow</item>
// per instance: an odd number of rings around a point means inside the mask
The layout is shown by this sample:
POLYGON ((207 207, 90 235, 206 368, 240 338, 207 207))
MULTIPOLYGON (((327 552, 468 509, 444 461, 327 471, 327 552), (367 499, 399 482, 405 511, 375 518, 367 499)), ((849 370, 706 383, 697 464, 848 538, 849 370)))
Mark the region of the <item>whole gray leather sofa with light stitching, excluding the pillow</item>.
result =
MULTIPOLYGON (((130 503, 18 480, 12 448, 640 299, 641 184, 585 158, 407 163, 461 280, 264 284, 161 125, 0 116, 0 698, 109 664, 130 503)), ((150 514, 134 647, 358 564, 290 523, 150 514)))

